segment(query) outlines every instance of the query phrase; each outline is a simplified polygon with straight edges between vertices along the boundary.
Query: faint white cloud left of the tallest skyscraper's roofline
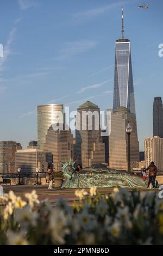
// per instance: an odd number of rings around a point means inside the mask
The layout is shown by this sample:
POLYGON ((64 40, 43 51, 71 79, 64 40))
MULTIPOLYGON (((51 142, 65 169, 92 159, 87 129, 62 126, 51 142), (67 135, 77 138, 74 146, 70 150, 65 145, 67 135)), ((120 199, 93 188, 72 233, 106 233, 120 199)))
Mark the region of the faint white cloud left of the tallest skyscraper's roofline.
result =
POLYGON ((79 53, 87 52, 92 48, 95 48, 98 43, 92 40, 80 40, 74 42, 66 42, 65 48, 60 51, 57 60, 68 59, 79 53))

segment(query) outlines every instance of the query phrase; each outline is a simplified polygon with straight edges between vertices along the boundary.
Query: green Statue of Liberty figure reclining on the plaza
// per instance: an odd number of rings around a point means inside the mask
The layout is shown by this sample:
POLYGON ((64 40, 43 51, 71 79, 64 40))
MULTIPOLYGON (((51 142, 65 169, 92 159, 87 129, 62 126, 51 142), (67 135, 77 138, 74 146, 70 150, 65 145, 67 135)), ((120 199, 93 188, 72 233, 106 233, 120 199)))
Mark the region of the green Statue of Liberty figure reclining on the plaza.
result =
POLYGON ((62 164, 64 181, 61 188, 90 188, 90 187, 126 187, 146 188, 147 179, 126 171, 108 169, 104 164, 97 163, 76 172, 74 163, 62 164))

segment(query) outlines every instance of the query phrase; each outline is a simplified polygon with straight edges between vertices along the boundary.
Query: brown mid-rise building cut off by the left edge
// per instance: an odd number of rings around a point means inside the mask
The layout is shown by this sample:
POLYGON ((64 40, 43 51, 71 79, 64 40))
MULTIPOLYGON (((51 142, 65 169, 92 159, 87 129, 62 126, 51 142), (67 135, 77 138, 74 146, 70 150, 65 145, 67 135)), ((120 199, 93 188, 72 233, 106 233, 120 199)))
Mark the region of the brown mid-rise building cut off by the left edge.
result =
POLYGON ((17 149, 21 148, 21 144, 15 141, 0 142, 0 173, 15 172, 15 153, 17 149))

